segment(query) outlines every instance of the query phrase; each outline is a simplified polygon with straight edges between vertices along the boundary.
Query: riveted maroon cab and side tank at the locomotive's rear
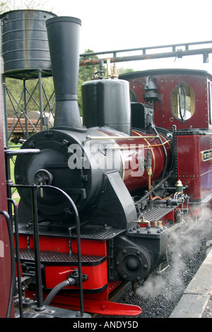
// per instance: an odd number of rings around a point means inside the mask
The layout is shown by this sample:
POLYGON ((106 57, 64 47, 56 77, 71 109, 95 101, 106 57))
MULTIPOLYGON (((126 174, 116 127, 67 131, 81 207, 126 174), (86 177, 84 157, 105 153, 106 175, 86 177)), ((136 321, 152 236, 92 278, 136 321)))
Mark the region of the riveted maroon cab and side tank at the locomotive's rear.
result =
MULTIPOLYGON (((146 102, 146 82, 154 82, 155 126, 172 134, 173 179, 184 185, 192 203, 211 200, 211 74, 188 69, 158 69, 121 76, 136 102, 146 102), (186 158, 187 162, 184 162, 186 158)), ((151 86, 150 86, 151 87, 151 86)))

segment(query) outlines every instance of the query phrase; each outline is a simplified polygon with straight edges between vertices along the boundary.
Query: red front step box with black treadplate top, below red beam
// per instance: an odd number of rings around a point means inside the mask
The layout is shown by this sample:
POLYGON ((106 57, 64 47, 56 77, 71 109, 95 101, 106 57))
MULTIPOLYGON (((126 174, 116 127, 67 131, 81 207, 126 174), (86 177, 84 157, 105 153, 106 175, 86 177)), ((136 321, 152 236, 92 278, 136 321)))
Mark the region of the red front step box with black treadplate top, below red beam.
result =
MULTIPOLYGON (((35 253, 33 249, 20 249, 20 262, 24 277, 35 276, 35 253)), ((84 292, 102 292, 107 288, 107 257, 81 255, 84 292), (95 278, 94 278, 95 275, 95 278)), ((68 287, 78 292, 78 255, 57 251, 40 251, 40 267, 43 290, 51 290, 69 275, 76 283, 68 287)))

